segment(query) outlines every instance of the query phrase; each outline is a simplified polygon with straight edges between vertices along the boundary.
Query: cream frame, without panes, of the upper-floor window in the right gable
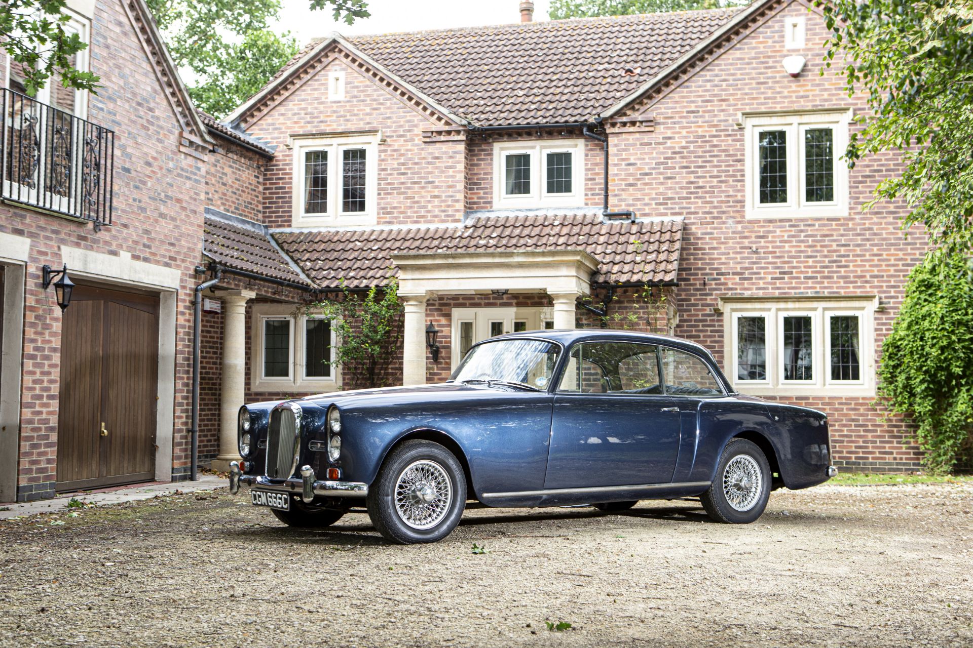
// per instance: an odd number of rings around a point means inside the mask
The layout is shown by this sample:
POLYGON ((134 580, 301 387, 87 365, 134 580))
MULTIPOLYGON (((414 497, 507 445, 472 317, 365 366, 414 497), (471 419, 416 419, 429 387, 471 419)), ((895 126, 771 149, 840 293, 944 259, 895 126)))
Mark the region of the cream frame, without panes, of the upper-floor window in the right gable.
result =
POLYGON ((745 138, 745 217, 778 219, 848 216, 848 168, 842 158, 847 149, 850 109, 792 111, 787 113, 744 113, 740 116, 745 138), (805 200, 804 134, 810 128, 831 128, 834 134, 834 191, 830 202, 805 200), (783 130, 787 135, 787 202, 760 204, 760 133, 783 130))

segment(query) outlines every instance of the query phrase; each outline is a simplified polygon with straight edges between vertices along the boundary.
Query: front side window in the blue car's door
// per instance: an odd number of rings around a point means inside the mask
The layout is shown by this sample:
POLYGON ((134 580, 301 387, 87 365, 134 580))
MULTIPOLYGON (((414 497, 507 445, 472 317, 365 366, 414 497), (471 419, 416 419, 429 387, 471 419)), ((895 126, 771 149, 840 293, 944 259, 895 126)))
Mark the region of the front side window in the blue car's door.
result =
POLYGON ((561 392, 662 393, 656 347, 632 342, 587 342, 571 351, 561 392))

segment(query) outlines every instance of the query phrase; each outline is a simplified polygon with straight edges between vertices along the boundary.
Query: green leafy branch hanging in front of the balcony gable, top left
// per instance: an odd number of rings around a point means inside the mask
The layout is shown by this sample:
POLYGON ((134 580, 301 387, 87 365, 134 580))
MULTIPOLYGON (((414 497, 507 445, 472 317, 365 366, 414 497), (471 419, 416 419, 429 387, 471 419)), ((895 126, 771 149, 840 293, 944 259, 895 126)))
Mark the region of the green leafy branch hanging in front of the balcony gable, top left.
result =
POLYGON ((0 11, 0 47, 23 65, 27 94, 53 78, 64 87, 96 93, 100 79, 77 70, 71 57, 88 47, 78 34, 65 31, 65 0, 9 0, 0 11))

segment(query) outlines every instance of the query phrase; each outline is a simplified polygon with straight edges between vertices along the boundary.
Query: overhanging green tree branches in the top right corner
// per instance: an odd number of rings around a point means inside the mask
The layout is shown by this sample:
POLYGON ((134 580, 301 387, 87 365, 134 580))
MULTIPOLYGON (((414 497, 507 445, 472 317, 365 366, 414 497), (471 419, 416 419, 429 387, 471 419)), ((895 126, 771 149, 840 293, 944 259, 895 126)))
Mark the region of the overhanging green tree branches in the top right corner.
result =
MULTIPOLYGON (((816 0, 832 31, 825 66, 836 63, 849 95, 869 110, 847 147, 849 166, 866 155, 905 158, 868 209, 900 199, 904 226, 924 224, 936 246, 973 243, 973 1, 816 0)), ((822 69, 822 74, 824 70, 822 69)))

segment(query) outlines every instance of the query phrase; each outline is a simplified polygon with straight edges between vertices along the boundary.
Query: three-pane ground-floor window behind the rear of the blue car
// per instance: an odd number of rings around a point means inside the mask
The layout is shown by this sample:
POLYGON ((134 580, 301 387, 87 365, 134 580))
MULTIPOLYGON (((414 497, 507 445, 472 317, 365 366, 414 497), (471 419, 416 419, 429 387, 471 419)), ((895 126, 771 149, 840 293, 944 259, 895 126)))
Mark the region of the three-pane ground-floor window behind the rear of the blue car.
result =
POLYGON ((727 298, 721 309, 739 391, 874 394, 874 297, 727 298))

